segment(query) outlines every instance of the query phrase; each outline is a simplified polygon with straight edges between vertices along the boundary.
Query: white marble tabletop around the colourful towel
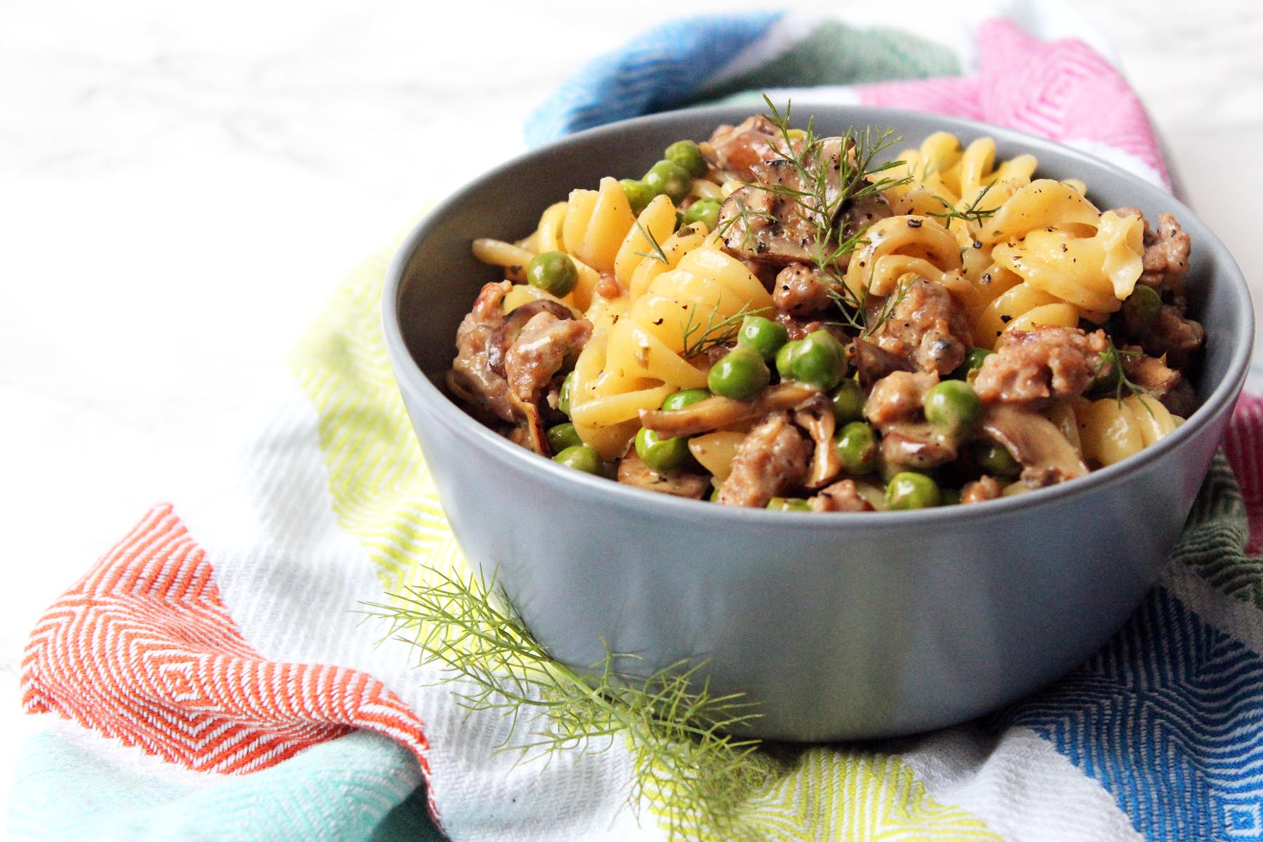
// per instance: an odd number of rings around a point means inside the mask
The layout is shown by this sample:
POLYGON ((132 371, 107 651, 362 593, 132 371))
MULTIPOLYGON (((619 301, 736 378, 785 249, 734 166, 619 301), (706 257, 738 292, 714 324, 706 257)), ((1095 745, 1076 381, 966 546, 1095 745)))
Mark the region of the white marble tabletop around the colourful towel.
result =
MULTIPOLYGON (((1257 5, 1070 5, 1263 282, 1257 5)), ((0 4, 0 792, 43 608, 162 497, 346 266, 515 151, 585 58, 681 11, 451 6, 0 4), (455 154, 427 151, 436 138, 455 154)))

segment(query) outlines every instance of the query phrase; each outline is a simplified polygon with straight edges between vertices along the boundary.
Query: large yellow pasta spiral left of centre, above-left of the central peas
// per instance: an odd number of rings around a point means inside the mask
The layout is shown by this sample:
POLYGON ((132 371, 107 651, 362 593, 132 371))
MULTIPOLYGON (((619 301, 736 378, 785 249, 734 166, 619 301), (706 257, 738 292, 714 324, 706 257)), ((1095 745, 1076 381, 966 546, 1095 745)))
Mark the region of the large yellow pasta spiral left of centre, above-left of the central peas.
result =
POLYGON ((580 353, 571 391, 580 438, 605 458, 621 456, 642 409, 705 388, 705 357, 688 356, 686 345, 703 340, 707 324, 770 307, 772 295, 739 260, 717 249, 685 254, 580 353))

